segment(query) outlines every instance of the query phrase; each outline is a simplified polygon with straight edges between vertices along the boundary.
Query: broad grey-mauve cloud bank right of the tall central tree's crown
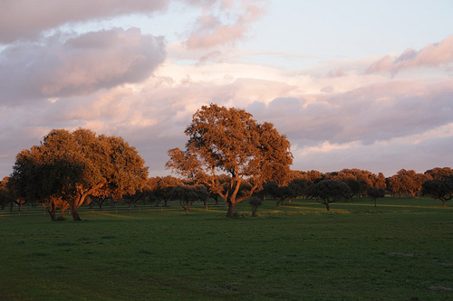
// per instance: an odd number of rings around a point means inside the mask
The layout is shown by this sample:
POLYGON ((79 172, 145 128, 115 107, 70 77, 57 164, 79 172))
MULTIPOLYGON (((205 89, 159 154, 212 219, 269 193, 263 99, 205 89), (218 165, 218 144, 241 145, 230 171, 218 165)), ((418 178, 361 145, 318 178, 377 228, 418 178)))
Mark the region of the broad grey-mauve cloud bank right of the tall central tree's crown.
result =
POLYGON ((453 80, 429 84, 388 80, 333 95, 312 95, 310 101, 301 95, 249 108, 254 116, 278 126, 294 146, 324 141, 372 145, 451 122, 453 80))

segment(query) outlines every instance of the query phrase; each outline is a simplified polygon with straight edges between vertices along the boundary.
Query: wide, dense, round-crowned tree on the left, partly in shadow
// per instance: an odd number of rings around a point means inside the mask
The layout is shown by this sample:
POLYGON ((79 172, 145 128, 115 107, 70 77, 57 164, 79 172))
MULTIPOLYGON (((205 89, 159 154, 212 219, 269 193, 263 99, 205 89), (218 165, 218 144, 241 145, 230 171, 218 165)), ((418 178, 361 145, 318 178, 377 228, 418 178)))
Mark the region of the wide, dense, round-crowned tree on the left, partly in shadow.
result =
POLYGON ((72 219, 89 195, 119 197, 146 183, 148 167, 121 137, 96 136, 89 129, 53 129, 40 146, 16 155, 11 181, 34 202, 68 202, 72 219))

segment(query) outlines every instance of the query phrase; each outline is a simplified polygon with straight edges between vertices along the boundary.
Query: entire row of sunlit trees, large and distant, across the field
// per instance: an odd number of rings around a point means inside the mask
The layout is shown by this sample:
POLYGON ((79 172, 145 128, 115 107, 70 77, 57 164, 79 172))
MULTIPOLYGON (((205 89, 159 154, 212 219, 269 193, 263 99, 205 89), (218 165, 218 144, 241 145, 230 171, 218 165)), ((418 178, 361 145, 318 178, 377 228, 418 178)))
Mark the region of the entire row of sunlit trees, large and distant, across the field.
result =
POLYGON ((196 200, 209 196, 223 199, 227 216, 235 216, 236 204, 265 196, 284 200, 300 195, 322 202, 356 196, 374 200, 387 189, 394 195, 424 193, 445 205, 451 199, 451 168, 435 168, 425 174, 401 170, 390 178, 359 169, 322 174, 290 170, 293 155, 286 136, 270 123, 259 124, 243 109, 215 104, 198 109, 187 127, 184 149, 169 150, 167 168, 180 175, 149 178, 148 168, 121 137, 97 136, 89 129, 73 132, 52 130, 40 146, 20 152, 14 171, 0 185, 0 198, 11 202, 42 203, 55 220, 57 209, 70 208, 81 221, 78 208, 85 202, 100 206, 108 199, 130 204, 149 199, 167 204, 178 200, 188 212, 196 200), (13 201, 12 201, 13 200, 13 201))

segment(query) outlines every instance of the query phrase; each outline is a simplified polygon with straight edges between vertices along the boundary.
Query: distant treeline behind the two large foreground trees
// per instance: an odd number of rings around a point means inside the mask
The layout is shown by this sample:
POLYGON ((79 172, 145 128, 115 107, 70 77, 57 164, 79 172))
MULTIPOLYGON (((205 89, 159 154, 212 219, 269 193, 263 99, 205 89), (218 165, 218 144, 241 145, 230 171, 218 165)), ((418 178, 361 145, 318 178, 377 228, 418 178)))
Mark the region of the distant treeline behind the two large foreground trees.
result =
MULTIPOLYGON (((69 202, 62 198, 26 200, 17 197, 8 184, 10 177, 5 177, 0 182, 0 206, 2 210, 9 208, 13 210, 17 206, 20 211, 22 206, 41 204, 48 210, 53 220, 57 217, 55 212, 63 216, 63 212, 71 208, 69 202)), ((217 182, 224 186, 230 183, 230 177, 226 174, 217 176, 217 182)), ((253 185, 253 180, 242 183, 243 189, 253 185)), ((239 192, 240 193, 240 192, 239 192)), ((351 201, 353 198, 370 197, 376 205, 378 198, 385 194, 401 197, 410 195, 428 195, 439 199, 443 206, 451 199, 453 193, 453 169, 450 167, 436 167, 427 170, 423 174, 417 174, 413 170, 401 169, 397 174, 385 177, 383 174, 373 174, 361 169, 343 169, 339 172, 321 173, 319 171, 290 171, 285 183, 277 184, 269 181, 263 184, 261 190, 249 198, 252 213, 265 200, 274 201, 275 207, 284 205, 284 202, 291 202, 296 198, 313 199, 323 203, 327 210, 330 204, 340 201, 351 201)), ((209 202, 218 204, 224 200, 217 193, 209 193, 206 184, 194 180, 184 180, 178 177, 154 176, 149 177, 146 183, 137 189, 135 193, 126 193, 115 196, 109 193, 90 194, 84 204, 90 208, 102 209, 105 204, 116 205, 124 202, 129 208, 137 204, 153 204, 155 206, 169 206, 170 202, 177 202, 178 205, 188 214, 194 202, 200 202, 207 206, 209 202)))

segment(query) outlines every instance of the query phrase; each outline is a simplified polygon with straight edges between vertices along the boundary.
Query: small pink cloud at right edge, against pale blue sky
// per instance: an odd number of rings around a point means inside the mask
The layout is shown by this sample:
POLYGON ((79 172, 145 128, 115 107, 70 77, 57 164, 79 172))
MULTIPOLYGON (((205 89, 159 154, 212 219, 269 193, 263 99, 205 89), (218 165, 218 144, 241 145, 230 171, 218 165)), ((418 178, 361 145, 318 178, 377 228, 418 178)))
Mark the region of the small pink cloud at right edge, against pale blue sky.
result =
POLYGON ((396 73, 407 69, 417 67, 438 67, 441 64, 452 62, 453 35, 449 35, 443 41, 429 44, 420 49, 419 52, 408 49, 393 60, 390 55, 384 56, 381 60, 372 63, 366 72, 390 72, 392 75, 395 75, 396 73))

